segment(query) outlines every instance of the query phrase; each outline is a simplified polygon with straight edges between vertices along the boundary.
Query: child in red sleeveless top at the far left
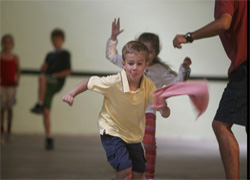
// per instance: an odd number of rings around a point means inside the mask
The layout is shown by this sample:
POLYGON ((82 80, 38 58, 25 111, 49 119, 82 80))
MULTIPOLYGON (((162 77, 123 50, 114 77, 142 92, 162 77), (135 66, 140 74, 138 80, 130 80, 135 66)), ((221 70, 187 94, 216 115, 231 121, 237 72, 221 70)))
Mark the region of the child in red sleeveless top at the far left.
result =
POLYGON ((1 144, 8 141, 11 134, 13 106, 16 103, 16 88, 20 78, 19 58, 12 53, 14 39, 7 34, 2 37, 0 54, 1 76, 1 144), (7 134, 4 131, 4 114, 7 112, 7 134))

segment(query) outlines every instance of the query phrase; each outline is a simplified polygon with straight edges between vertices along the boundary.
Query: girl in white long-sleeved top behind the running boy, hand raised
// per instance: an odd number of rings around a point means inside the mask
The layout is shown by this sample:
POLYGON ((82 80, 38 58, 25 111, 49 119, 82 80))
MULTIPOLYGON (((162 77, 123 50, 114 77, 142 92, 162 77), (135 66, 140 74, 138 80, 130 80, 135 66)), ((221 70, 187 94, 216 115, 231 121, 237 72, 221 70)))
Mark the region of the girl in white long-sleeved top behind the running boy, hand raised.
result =
MULTIPOLYGON (((116 19, 112 23, 111 38, 108 39, 106 45, 106 57, 112 63, 122 67, 122 56, 117 53, 117 36, 123 32, 120 30, 120 20, 116 19)), ((180 66, 179 73, 173 71, 167 64, 163 63, 158 57, 160 53, 160 40, 159 37, 153 33, 143 33, 139 36, 138 41, 144 43, 149 49, 149 66, 145 70, 145 75, 151 79, 157 88, 164 85, 170 85, 175 82, 187 80, 190 75, 189 65, 191 59, 186 57, 183 64, 180 66)), ((156 111, 151 109, 150 106, 146 109, 146 129, 143 139, 143 144, 146 151, 146 178, 154 179, 155 160, 156 160, 156 140, 155 140, 155 127, 156 127, 156 111)))

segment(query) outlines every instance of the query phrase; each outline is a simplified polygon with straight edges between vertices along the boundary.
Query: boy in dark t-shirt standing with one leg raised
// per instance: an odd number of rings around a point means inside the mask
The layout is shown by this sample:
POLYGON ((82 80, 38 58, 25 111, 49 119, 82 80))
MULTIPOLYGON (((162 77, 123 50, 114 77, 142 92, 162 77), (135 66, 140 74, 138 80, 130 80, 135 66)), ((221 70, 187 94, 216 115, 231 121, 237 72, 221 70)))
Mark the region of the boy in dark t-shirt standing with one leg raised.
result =
POLYGON ((47 150, 54 148, 50 130, 52 98, 62 89, 66 76, 71 74, 70 53, 62 47, 65 40, 64 32, 60 29, 53 30, 51 40, 55 50, 48 53, 41 67, 38 102, 31 109, 33 113, 43 114, 47 150))

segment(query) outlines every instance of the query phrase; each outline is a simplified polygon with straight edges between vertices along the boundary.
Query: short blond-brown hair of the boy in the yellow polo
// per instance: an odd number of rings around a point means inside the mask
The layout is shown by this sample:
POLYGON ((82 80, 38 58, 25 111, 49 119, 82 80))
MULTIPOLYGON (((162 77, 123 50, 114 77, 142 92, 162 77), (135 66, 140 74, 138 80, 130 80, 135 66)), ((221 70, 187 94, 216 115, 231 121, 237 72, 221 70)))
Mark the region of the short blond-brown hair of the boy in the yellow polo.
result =
POLYGON ((125 44, 122 48, 122 59, 125 61, 126 54, 138 54, 138 53, 145 53, 146 62, 148 61, 148 47, 139 41, 129 41, 125 44))

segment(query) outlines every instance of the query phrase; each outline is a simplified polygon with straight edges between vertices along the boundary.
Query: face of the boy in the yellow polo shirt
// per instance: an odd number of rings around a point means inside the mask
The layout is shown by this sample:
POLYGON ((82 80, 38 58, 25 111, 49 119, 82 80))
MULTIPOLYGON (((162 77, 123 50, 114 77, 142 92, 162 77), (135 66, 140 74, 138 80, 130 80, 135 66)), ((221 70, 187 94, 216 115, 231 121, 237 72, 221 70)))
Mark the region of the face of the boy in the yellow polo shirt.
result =
POLYGON ((140 83, 144 70, 148 67, 145 53, 126 54, 122 64, 128 81, 131 83, 140 83))

